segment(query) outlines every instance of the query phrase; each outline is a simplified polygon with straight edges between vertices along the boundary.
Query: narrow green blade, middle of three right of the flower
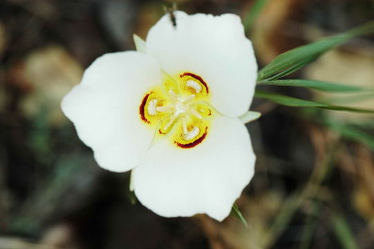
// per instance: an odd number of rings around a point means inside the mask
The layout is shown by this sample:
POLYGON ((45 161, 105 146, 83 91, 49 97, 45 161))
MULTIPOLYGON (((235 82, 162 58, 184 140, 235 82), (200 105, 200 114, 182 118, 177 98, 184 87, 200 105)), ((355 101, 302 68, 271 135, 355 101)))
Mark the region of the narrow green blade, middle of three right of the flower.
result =
POLYGON ((353 91, 366 91, 357 86, 346 86, 344 84, 337 84, 331 82, 321 82, 319 80, 265 80, 259 84, 267 84, 273 86, 301 86, 319 91, 329 92, 353 92, 353 91))

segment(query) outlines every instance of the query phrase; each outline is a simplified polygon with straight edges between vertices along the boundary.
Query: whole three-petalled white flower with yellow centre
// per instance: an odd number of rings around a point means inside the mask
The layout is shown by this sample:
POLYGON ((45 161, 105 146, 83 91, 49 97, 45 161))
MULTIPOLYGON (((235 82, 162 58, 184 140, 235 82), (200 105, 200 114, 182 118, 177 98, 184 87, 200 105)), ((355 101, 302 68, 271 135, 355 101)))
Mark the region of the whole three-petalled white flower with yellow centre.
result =
POLYGON ((236 15, 165 15, 138 52, 103 55, 62 101, 95 160, 132 170, 139 201, 167 217, 222 221, 254 174, 238 117, 252 102, 256 59, 236 15))

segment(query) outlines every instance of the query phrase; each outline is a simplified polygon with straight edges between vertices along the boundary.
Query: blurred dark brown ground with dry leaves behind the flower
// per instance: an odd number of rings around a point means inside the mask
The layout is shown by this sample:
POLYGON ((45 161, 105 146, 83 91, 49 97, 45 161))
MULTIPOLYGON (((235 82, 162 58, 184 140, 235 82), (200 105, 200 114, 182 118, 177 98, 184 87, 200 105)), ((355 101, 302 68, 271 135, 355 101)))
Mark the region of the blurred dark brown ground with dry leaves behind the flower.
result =
MULTIPOLYGON (((374 19, 371 0, 254 2, 176 1, 189 14, 240 15, 260 68, 374 19)), ((144 39, 172 3, 0 1, 0 249, 374 248, 373 116, 255 99, 251 109, 263 113, 248 125, 256 174, 237 201, 247 227, 235 214, 223 223, 165 219, 136 202, 129 173, 97 166, 59 102, 96 57, 134 50, 133 33, 144 39)), ((373 89, 373 38, 353 39, 289 78, 373 89)), ((265 89, 374 109, 373 94, 265 89)))

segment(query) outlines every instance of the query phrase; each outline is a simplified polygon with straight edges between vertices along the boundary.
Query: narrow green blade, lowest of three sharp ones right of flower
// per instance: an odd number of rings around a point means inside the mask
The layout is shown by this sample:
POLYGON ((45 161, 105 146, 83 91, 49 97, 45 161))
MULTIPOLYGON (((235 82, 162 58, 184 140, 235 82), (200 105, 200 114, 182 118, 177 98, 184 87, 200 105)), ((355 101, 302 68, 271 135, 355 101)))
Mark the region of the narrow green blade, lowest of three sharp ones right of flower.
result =
POLYGON ((374 114, 374 110, 357 109, 357 108, 351 108, 351 107, 342 107, 342 106, 336 106, 336 105, 330 105, 330 104, 323 104, 319 102, 314 102, 310 100, 301 100, 299 98, 293 98, 293 97, 281 95, 278 93, 269 93, 269 92, 260 91, 260 90, 256 90, 256 93, 254 93, 254 96, 256 98, 263 98, 265 100, 269 100, 277 104, 282 104, 287 107, 315 107, 315 108, 330 109, 330 110, 335 110, 335 111, 353 111, 353 112, 359 112, 359 113, 374 114))

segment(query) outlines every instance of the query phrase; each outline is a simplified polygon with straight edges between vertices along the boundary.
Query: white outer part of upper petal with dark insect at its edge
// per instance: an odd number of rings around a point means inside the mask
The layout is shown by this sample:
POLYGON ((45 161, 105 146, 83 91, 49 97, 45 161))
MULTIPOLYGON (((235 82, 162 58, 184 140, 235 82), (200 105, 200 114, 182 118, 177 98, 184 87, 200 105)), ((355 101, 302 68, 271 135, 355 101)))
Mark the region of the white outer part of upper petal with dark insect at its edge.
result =
POLYGON ((149 30, 147 53, 169 75, 190 72, 209 86, 212 105, 237 117, 250 107, 257 64, 238 16, 187 15, 175 12, 176 27, 165 15, 149 30))

